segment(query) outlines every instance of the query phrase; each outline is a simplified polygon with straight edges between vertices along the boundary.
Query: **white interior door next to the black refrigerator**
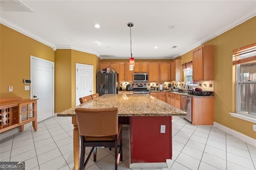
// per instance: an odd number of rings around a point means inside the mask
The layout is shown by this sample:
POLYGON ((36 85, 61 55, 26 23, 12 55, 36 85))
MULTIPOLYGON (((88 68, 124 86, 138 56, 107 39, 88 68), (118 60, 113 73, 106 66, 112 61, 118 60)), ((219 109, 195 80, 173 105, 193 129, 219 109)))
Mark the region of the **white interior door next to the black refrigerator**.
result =
POLYGON ((93 92, 93 65, 76 63, 76 106, 79 98, 91 95, 93 92))

